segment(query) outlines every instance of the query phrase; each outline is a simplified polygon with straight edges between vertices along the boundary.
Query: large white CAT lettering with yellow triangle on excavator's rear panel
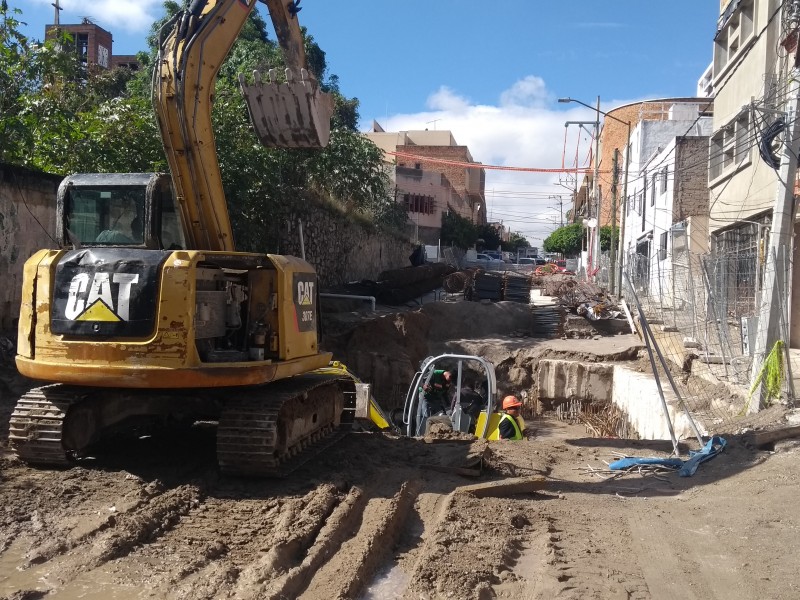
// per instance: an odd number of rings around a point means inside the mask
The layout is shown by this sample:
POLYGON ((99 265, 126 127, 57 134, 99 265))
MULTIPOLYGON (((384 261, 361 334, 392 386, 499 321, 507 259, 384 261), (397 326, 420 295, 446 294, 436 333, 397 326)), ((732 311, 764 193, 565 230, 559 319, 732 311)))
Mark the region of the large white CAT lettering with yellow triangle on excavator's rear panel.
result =
POLYGON ((136 273, 78 273, 69 284, 64 316, 70 321, 127 321, 136 273), (116 284, 116 301, 111 284, 116 284))

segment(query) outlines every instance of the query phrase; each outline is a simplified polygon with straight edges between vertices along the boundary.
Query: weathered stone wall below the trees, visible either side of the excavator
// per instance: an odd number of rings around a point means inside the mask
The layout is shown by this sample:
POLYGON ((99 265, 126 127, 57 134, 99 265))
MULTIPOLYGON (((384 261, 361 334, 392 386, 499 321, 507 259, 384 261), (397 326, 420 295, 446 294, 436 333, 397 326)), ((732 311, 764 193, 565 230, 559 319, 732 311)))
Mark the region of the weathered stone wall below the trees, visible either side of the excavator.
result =
MULTIPOLYGON (((22 267, 41 248, 55 248, 56 191, 61 177, 0 164, 0 331, 16 329, 22 295, 22 267)), ((306 260, 321 287, 377 279, 390 269, 409 266, 414 246, 380 233, 335 207, 314 202, 281 228, 279 247, 301 256, 302 223, 306 260)))

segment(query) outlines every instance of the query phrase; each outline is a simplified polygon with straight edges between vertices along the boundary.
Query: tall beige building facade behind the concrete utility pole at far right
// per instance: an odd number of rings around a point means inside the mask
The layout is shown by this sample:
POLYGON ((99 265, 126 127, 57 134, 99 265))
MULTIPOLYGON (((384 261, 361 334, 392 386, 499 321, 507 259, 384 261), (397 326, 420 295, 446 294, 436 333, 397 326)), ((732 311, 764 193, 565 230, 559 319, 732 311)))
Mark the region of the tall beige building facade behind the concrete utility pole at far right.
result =
MULTIPOLYGON (((715 292, 732 320, 758 312, 772 213, 784 186, 780 138, 790 72, 797 64, 798 6, 781 0, 726 0, 714 37, 714 126, 709 149, 710 243, 715 292), (794 11, 794 12, 793 12, 794 11)), ((796 190, 796 188, 795 188, 796 190)), ((796 191, 795 191, 796 195, 796 191)), ((794 225, 794 238, 800 228, 794 225)), ((800 258, 796 244, 778 260, 800 258)), ((795 269, 791 294, 800 293, 795 269)), ((789 311, 790 345, 800 344, 800 319, 789 311)))

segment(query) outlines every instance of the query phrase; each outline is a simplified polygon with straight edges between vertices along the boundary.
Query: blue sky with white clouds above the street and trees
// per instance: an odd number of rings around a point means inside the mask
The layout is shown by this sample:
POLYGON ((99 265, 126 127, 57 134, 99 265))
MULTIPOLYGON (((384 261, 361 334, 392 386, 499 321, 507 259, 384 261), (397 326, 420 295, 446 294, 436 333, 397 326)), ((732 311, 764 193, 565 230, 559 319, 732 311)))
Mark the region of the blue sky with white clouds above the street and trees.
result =
MULTIPOLYGON (((146 49, 161 0, 59 0, 61 23, 89 17, 114 54, 146 49)), ((9 0, 24 32, 44 36, 54 0, 9 0)), ((328 75, 360 101, 360 128, 444 129, 486 165, 588 165, 596 112, 693 97, 712 59, 717 0, 302 0, 300 22, 328 75), (591 128, 589 128, 591 129, 591 128), (577 161, 576 161, 577 156, 577 161)), ((259 10, 269 19, 263 5, 259 10)), ((561 224, 574 174, 487 170, 490 221, 533 246, 561 224)))

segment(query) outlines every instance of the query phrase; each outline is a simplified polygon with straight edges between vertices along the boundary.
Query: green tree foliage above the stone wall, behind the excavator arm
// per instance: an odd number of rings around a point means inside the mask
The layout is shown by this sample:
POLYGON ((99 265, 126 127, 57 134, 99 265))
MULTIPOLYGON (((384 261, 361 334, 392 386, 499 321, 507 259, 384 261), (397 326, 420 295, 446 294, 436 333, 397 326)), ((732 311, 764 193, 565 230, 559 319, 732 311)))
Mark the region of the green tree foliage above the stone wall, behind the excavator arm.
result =
MULTIPOLYGON (((79 64, 67 37, 32 43, 20 33, 21 12, 0 4, 0 161, 55 174, 164 171, 167 163, 151 103, 158 33, 137 55, 142 69, 91 70, 79 64)), ((380 150, 357 132, 358 100, 346 98, 325 52, 303 30, 309 67, 334 97, 330 143, 323 150, 275 150, 256 139, 239 91, 238 73, 284 66, 257 11, 250 14, 216 82, 213 127, 237 243, 264 250, 284 217, 312 197, 338 204, 378 226, 406 215, 394 203, 380 150)), ((277 236, 277 233, 276 233, 277 236)))

